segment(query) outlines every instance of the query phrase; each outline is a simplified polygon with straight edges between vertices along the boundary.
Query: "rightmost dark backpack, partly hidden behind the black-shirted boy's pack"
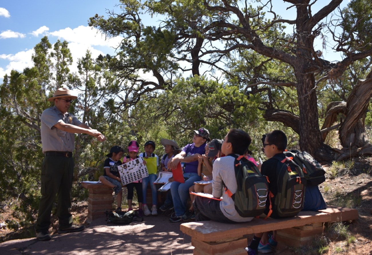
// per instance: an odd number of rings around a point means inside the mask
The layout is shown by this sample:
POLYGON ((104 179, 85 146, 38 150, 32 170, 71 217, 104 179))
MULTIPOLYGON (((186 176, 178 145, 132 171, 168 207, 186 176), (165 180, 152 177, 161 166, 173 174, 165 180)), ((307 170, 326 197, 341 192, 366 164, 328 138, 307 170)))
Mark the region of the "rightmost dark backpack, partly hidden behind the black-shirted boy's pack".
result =
POLYGON ((304 177, 307 180, 307 185, 315 186, 323 183, 325 181, 325 171, 321 164, 316 161, 308 152, 306 151, 285 151, 284 154, 288 157, 293 157, 293 161, 302 167, 302 172, 304 172, 304 177))

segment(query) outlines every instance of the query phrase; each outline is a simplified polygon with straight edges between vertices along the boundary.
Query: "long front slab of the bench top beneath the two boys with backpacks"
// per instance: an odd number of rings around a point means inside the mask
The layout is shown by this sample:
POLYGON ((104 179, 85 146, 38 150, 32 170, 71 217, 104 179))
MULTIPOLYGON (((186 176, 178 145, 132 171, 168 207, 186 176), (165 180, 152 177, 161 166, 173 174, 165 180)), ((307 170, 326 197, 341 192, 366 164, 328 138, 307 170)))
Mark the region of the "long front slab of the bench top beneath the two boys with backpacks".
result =
POLYGON ((213 221, 188 222, 180 225, 180 230, 192 238, 203 242, 234 240, 253 233, 287 229, 311 223, 329 222, 331 214, 324 212, 300 212, 295 217, 285 219, 253 219, 251 222, 227 224, 213 221))

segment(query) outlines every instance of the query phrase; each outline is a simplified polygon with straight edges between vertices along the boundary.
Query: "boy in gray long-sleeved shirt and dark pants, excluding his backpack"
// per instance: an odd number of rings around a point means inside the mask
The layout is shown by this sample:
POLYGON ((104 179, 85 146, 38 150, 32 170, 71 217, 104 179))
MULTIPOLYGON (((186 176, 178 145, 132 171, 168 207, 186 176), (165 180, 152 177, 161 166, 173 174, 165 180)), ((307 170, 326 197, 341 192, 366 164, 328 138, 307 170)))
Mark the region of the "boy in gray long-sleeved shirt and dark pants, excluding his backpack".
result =
MULTIPOLYGON (((230 129, 225 136, 221 146, 221 152, 227 156, 217 158, 213 164, 212 198, 196 196, 193 202, 195 210, 195 220, 215 220, 223 223, 249 222, 254 216, 243 217, 236 209, 236 199, 239 191, 239 185, 235 172, 235 166, 243 162, 244 165, 253 166, 251 161, 243 158, 252 139, 240 129, 230 129), (240 161, 241 159, 241 161, 240 161), (238 162, 238 163, 237 163, 238 162), (248 162, 248 163, 247 163, 248 162), (225 192, 226 191, 226 192, 225 192), (222 200, 219 200, 222 196, 222 200), (216 198, 218 200, 216 200, 216 198), (234 201, 235 199, 235 201, 234 201)), ((254 166, 256 167, 256 166, 254 166)), ((257 167, 255 168, 257 170, 257 167)), ((250 169, 248 171, 251 171, 250 169)), ((260 177, 264 178, 257 173, 260 177)), ((266 182, 266 178, 264 178, 266 182)), ((266 201, 267 186, 263 184, 266 190, 263 191, 263 209, 266 201)), ((257 188, 257 187, 256 187, 257 188)), ((257 188, 260 190, 260 188, 257 188)))

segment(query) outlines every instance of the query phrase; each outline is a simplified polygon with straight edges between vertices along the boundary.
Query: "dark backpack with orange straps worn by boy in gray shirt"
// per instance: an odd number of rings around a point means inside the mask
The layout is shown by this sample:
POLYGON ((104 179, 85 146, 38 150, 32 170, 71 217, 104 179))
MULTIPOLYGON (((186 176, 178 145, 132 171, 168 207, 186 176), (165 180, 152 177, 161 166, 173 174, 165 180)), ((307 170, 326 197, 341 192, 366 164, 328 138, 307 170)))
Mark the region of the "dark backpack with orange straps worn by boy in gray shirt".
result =
POLYGON ((237 191, 232 194, 227 187, 227 194, 234 200, 235 210, 241 217, 256 217, 266 208, 268 183, 266 176, 262 175, 257 166, 244 156, 230 154, 235 158, 235 178, 237 191))

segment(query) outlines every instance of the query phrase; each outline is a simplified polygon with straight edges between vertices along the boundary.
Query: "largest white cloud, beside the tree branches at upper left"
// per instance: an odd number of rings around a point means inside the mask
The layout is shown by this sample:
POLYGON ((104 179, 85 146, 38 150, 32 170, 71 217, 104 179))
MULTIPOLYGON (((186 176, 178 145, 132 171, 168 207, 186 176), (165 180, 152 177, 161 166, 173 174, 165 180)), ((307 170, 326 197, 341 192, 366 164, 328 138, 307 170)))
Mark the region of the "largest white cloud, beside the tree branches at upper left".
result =
POLYGON ((110 38, 105 40, 105 35, 102 35, 96 28, 89 26, 78 26, 77 28, 65 28, 58 31, 50 32, 49 35, 57 36, 67 42, 86 43, 94 46, 109 46, 117 47, 120 45, 122 37, 110 38))

